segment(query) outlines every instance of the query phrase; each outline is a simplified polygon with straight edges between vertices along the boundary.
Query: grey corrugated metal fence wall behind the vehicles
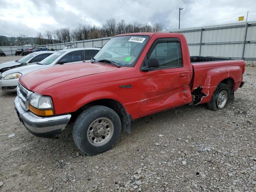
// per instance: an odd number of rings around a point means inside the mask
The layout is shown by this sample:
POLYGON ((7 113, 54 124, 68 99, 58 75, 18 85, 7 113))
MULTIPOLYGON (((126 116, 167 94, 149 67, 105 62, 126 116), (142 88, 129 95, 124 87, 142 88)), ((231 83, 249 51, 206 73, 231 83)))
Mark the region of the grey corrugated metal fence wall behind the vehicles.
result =
MULTIPOLYGON (((187 28, 172 32, 182 33, 187 39, 191 56, 213 56, 224 58, 244 58, 256 60, 256 21, 187 28), (247 28, 247 29, 246 29, 247 28), (244 37, 246 40, 244 41, 244 37), (243 55, 244 50, 244 55, 243 55)), ((110 38, 51 44, 47 48, 61 50, 66 44, 76 47, 102 47, 110 38)), ((6 55, 13 55, 18 48, 24 46, 0 47, 6 55)))

